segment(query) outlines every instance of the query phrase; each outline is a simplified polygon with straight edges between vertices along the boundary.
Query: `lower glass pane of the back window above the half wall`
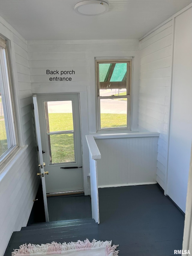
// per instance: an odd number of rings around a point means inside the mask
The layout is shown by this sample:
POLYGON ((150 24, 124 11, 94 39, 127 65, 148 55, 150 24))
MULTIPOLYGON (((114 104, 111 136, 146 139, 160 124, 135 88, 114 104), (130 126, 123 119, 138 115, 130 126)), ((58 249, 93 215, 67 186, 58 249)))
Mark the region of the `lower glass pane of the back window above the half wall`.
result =
POLYGON ((127 127, 127 98, 100 99, 101 129, 127 127))

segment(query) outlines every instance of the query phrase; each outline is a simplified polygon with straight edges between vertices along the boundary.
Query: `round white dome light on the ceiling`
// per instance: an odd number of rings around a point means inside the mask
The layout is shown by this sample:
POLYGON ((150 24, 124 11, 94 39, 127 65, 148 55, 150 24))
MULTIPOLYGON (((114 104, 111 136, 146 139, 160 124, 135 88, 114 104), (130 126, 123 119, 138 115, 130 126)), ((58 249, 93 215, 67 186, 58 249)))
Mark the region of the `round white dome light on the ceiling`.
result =
POLYGON ((106 13, 109 9, 109 5, 99 0, 85 0, 77 3, 74 9, 76 13, 82 15, 99 15, 106 13))

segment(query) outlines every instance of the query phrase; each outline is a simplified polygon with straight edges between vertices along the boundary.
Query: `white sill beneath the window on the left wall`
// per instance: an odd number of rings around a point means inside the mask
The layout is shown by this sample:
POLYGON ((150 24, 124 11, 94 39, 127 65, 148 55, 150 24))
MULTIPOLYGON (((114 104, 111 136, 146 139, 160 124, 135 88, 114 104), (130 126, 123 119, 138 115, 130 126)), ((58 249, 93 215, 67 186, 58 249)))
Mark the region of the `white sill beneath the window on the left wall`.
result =
POLYGON ((28 145, 23 146, 22 148, 17 148, 13 154, 10 155, 10 157, 7 159, 7 161, 4 161, 1 165, 0 170, 0 182, 4 179, 7 172, 12 168, 18 159, 22 156, 22 154, 26 151, 28 145))

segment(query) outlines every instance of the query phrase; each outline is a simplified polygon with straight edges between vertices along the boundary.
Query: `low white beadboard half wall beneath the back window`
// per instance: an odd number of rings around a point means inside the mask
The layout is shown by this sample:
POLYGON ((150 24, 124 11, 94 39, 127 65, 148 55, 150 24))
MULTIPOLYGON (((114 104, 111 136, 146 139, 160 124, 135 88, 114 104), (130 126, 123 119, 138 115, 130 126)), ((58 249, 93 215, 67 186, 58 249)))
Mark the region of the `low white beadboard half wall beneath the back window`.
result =
POLYGON ((96 139, 98 187, 156 183, 158 137, 96 139))

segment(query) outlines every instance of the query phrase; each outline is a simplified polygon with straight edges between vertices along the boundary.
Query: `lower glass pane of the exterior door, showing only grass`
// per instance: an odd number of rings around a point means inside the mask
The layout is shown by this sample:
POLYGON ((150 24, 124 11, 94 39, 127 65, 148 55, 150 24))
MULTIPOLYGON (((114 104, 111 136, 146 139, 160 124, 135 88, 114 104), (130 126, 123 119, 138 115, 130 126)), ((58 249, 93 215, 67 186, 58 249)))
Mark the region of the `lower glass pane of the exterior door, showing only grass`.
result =
POLYGON ((48 135, 50 139, 50 163, 67 163, 75 161, 73 134, 48 135))

